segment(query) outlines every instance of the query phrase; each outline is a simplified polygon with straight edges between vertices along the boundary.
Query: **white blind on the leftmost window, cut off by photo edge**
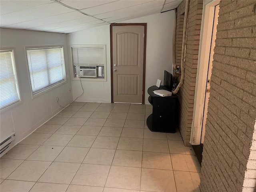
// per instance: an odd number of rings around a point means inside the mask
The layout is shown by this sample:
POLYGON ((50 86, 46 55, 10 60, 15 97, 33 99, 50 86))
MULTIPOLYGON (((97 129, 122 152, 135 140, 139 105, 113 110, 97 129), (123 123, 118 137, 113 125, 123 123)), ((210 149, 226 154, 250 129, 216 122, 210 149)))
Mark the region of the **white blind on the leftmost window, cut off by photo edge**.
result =
POLYGON ((0 108, 20 100, 12 50, 0 51, 0 108))

